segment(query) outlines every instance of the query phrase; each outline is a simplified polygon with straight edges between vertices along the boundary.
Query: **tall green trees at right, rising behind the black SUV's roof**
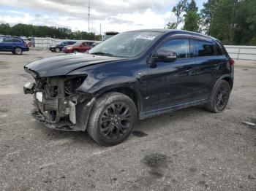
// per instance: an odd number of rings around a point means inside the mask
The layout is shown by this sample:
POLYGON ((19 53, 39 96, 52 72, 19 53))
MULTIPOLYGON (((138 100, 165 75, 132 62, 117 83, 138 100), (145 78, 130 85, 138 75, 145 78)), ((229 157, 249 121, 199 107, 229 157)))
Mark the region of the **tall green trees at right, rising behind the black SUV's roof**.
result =
POLYGON ((213 36, 223 44, 256 45, 255 0, 208 0, 198 11, 195 0, 180 0, 173 7, 176 22, 166 28, 181 27, 213 36))

